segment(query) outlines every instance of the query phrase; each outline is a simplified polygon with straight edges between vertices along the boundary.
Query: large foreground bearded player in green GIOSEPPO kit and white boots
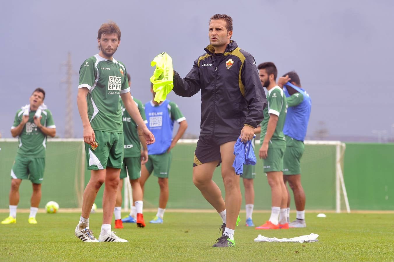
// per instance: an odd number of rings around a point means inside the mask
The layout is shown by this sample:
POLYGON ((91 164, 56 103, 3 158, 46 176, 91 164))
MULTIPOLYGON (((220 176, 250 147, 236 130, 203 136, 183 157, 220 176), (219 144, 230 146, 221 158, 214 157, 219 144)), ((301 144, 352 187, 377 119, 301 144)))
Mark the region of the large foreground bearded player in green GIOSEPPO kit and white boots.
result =
POLYGON ((86 59, 80 68, 77 104, 84 126, 86 162, 91 177, 82 198, 82 214, 75 236, 84 242, 128 242, 111 231, 119 175, 123 167, 124 140, 119 96, 127 112, 141 128, 147 143, 154 142, 154 136, 131 97, 126 68, 113 58, 120 41, 121 31, 114 22, 102 24, 97 35, 100 52, 86 59), (89 215, 103 183, 103 219, 99 239, 96 239, 89 229, 89 215))

